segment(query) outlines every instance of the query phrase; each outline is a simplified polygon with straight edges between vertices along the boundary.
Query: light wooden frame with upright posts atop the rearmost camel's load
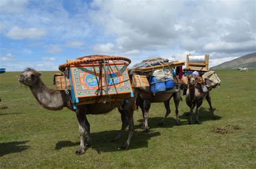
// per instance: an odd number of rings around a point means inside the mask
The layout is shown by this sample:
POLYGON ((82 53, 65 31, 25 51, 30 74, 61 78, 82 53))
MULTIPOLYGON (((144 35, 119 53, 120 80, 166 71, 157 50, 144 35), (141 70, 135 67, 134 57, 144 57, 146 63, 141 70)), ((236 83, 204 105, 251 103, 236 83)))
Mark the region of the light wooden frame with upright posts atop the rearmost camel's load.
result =
POLYGON ((190 61, 190 55, 187 54, 186 69, 192 71, 209 71, 209 55, 206 54, 204 62, 192 62, 190 61))

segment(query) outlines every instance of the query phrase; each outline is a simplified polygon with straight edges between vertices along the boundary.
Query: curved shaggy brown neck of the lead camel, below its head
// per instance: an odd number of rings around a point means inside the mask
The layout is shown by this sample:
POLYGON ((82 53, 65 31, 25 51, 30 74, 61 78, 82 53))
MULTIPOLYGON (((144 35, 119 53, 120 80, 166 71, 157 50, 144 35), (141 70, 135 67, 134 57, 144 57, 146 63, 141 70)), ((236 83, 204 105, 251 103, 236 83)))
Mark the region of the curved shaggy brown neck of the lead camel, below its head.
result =
POLYGON ((61 110, 65 105, 65 95, 60 91, 48 89, 41 79, 38 79, 37 85, 30 89, 36 100, 46 109, 61 110))

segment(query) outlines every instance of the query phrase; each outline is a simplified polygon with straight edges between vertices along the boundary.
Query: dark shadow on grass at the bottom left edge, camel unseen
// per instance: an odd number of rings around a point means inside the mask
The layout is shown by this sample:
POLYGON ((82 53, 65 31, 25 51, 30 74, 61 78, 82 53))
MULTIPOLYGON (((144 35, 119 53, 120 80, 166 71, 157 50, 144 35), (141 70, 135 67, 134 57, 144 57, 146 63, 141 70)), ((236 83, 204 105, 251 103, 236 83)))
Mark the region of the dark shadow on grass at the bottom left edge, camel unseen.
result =
POLYGON ((30 146, 21 145, 21 144, 25 144, 27 142, 29 142, 29 141, 0 143, 0 157, 4 156, 6 154, 22 152, 26 149, 29 149, 30 146))

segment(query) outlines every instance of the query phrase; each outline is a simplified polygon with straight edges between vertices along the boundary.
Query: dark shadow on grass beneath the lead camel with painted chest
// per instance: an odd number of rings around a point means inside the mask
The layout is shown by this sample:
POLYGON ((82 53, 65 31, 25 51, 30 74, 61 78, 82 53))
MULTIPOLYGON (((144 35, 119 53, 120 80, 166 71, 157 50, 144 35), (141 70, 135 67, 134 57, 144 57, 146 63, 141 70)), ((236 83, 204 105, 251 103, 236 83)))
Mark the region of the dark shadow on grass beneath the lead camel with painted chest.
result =
MULTIPOLYGON (((94 149, 100 154, 101 152, 114 152, 121 151, 121 146, 124 145, 128 137, 128 131, 126 130, 122 138, 117 142, 111 142, 111 139, 114 139, 117 136, 118 130, 112 131, 102 131, 91 133, 91 138, 93 144, 88 149, 94 149)), ((140 132, 134 131, 130 149, 140 149, 142 147, 148 146, 148 140, 152 137, 160 136, 160 132, 150 131, 150 132, 140 132)), ((60 150, 63 147, 72 147, 76 146, 74 151, 78 149, 80 142, 71 142, 71 141, 59 141, 56 143, 55 150, 60 150)))

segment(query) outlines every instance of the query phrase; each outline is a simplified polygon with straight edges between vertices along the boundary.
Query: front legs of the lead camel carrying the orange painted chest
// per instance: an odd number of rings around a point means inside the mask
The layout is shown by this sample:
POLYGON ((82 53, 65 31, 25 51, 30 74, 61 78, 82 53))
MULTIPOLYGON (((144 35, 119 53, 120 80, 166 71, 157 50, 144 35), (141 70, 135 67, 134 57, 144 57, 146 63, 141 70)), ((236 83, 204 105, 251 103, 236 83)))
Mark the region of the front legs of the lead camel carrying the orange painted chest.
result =
POLYGON ((84 111, 77 109, 76 115, 77 115, 77 121, 78 121, 79 132, 80 132, 80 146, 75 153, 77 155, 80 155, 85 153, 86 146, 91 145, 90 124, 87 121, 84 111), (86 144, 84 144, 85 131, 87 132, 86 144))

